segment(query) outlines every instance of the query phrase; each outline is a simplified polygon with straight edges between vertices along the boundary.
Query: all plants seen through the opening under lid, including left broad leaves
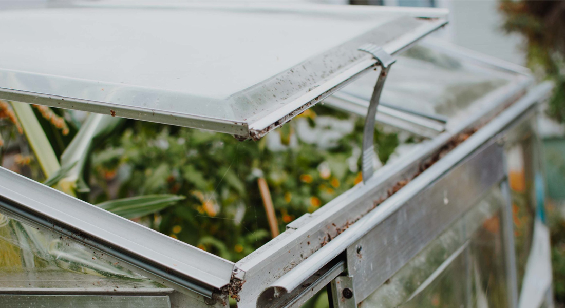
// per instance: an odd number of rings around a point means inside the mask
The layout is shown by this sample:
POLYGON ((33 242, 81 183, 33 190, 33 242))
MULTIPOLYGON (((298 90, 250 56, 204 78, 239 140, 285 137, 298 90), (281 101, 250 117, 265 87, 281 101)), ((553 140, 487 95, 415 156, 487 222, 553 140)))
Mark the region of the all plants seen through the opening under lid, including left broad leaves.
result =
MULTIPOLYGON (((361 181, 363 119, 323 106, 257 142, 102 115, 77 120, 72 111, 36 107, 27 114, 39 124, 29 130, 55 153, 48 172, 38 164, 43 151, 20 137, 20 123, 5 107, 3 153, 20 162, 12 170, 232 261, 270 240, 259 177, 267 180, 281 231, 361 181)), ((375 142, 384 163, 399 141, 376 129, 375 142)))

